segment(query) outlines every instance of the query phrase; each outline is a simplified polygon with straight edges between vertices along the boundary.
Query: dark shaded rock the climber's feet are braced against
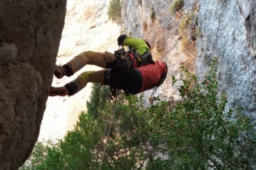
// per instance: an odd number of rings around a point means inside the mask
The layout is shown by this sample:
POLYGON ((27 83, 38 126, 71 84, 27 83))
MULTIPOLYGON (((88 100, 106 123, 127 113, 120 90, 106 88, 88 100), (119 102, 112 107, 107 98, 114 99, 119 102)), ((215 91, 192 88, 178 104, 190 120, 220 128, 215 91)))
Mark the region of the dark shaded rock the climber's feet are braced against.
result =
POLYGON ((0 170, 15 170, 39 135, 66 0, 1 0, 0 11, 0 170))

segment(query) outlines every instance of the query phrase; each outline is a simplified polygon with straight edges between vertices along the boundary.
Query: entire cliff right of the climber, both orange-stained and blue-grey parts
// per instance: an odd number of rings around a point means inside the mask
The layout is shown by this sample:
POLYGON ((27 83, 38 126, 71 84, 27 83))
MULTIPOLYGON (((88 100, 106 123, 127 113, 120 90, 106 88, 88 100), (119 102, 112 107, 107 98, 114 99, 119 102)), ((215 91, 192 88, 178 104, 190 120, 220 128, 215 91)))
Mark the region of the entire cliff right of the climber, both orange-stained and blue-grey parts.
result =
MULTIPOLYGON (((202 80, 213 57, 219 56, 219 95, 226 93, 227 107, 244 107, 256 118, 256 1, 184 0, 184 9, 171 15, 172 0, 125 0, 128 4, 126 34, 143 37, 153 47, 153 57, 168 64, 167 79, 156 92, 167 100, 179 100, 171 76, 182 79, 185 64, 202 80), (196 53, 182 50, 179 25, 199 7, 196 53), (142 16, 142 17, 141 17, 142 16)), ((145 92, 148 99, 152 91, 145 92)), ((147 101, 145 104, 150 104, 147 101)))

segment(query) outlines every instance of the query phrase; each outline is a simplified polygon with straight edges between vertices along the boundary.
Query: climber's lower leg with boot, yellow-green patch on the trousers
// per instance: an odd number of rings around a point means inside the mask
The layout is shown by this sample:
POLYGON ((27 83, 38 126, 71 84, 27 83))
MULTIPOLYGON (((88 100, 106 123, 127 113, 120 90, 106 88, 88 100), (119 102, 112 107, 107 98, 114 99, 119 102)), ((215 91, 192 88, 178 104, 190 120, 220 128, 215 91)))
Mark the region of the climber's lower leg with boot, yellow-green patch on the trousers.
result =
POLYGON ((88 82, 100 83, 101 85, 105 85, 105 73, 108 69, 102 69, 99 71, 87 71, 83 72, 80 76, 78 76, 72 82, 67 83, 64 87, 51 87, 49 92, 49 96, 65 96, 65 95, 73 95, 84 88, 88 82))

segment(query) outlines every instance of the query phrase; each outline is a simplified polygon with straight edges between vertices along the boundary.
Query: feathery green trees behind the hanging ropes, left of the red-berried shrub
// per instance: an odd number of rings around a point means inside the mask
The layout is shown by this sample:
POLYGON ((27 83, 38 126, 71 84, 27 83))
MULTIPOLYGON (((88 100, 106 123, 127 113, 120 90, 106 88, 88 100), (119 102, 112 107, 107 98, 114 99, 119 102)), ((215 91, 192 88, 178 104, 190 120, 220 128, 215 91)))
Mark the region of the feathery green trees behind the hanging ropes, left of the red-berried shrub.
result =
MULTIPOLYGON (((134 98, 125 97, 124 94, 118 95, 103 169, 130 170, 145 157, 144 143, 148 140, 148 135, 142 128, 147 120, 140 111, 141 102, 142 96, 134 98)), ((22 169, 80 170, 92 169, 94 165, 98 169, 98 160, 102 156, 105 140, 101 147, 99 145, 113 104, 114 102, 108 99, 108 88, 93 84, 91 101, 87 102, 88 113, 82 112, 75 128, 56 144, 37 143, 35 148, 42 145, 43 149, 34 149, 22 169), (33 155, 42 159, 39 161, 33 155), (33 164, 29 164, 31 160, 35 160, 33 164)))

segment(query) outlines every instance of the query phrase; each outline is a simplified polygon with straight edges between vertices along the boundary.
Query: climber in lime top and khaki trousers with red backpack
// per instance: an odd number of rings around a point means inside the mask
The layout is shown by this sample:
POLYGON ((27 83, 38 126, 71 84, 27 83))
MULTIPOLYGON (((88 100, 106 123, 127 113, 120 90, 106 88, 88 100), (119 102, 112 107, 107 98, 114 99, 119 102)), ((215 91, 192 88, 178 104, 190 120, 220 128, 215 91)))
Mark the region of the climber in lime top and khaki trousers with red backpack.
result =
POLYGON ((150 44, 141 39, 120 35, 119 46, 128 46, 115 51, 115 54, 85 51, 63 66, 56 66, 54 75, 61 79, 72 76, 86 64, 100 66, 102 70, 83 72, 72 82, 63 87, 51 87, 49 96, 73 95, 86 86, 88 82, 109 85, 114 91, 124 90, 126 94, 138 94, 160 86, 167 74, 167 65, 162 61, 153 61, 150 44))

